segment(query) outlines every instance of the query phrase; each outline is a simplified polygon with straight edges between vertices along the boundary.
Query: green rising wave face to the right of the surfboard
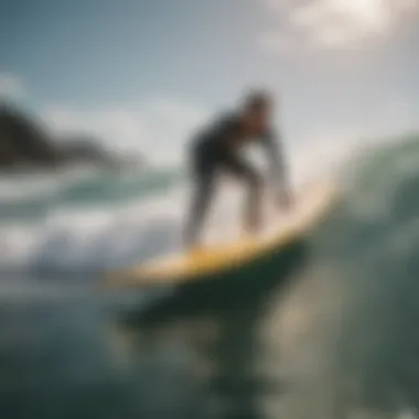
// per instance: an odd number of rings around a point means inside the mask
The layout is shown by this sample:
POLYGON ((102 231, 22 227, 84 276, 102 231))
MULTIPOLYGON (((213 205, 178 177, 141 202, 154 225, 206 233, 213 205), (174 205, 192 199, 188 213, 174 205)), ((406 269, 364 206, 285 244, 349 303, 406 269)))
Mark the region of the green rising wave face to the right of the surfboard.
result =
POLYGON ((412 136, 346 168, 342 202, 266 327, 300 385, 278 398, 282 416, 417 417, 418 161, 412 136))

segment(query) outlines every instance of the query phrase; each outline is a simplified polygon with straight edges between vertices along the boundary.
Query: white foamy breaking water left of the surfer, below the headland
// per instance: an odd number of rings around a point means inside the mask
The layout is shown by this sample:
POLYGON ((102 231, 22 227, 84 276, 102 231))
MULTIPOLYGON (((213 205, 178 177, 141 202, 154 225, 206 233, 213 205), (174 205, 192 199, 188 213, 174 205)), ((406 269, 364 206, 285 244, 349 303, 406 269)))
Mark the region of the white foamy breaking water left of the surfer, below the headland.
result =
POLYGON ((75 169, 0 181, 0 271, 92 275, 147 258, 173 230, 178 179, 75 169))

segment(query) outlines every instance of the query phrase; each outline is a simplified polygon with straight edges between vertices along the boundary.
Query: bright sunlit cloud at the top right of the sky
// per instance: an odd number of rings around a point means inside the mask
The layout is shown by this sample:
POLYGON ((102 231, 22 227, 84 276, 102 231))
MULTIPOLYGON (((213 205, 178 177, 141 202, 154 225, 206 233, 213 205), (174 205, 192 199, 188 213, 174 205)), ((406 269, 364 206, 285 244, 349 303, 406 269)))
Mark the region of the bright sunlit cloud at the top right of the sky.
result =
POLYGON ((419 0, 264 0, 277 28, 261 36, 270 52, 298 46, 346 47, 384 36, 419 0))

